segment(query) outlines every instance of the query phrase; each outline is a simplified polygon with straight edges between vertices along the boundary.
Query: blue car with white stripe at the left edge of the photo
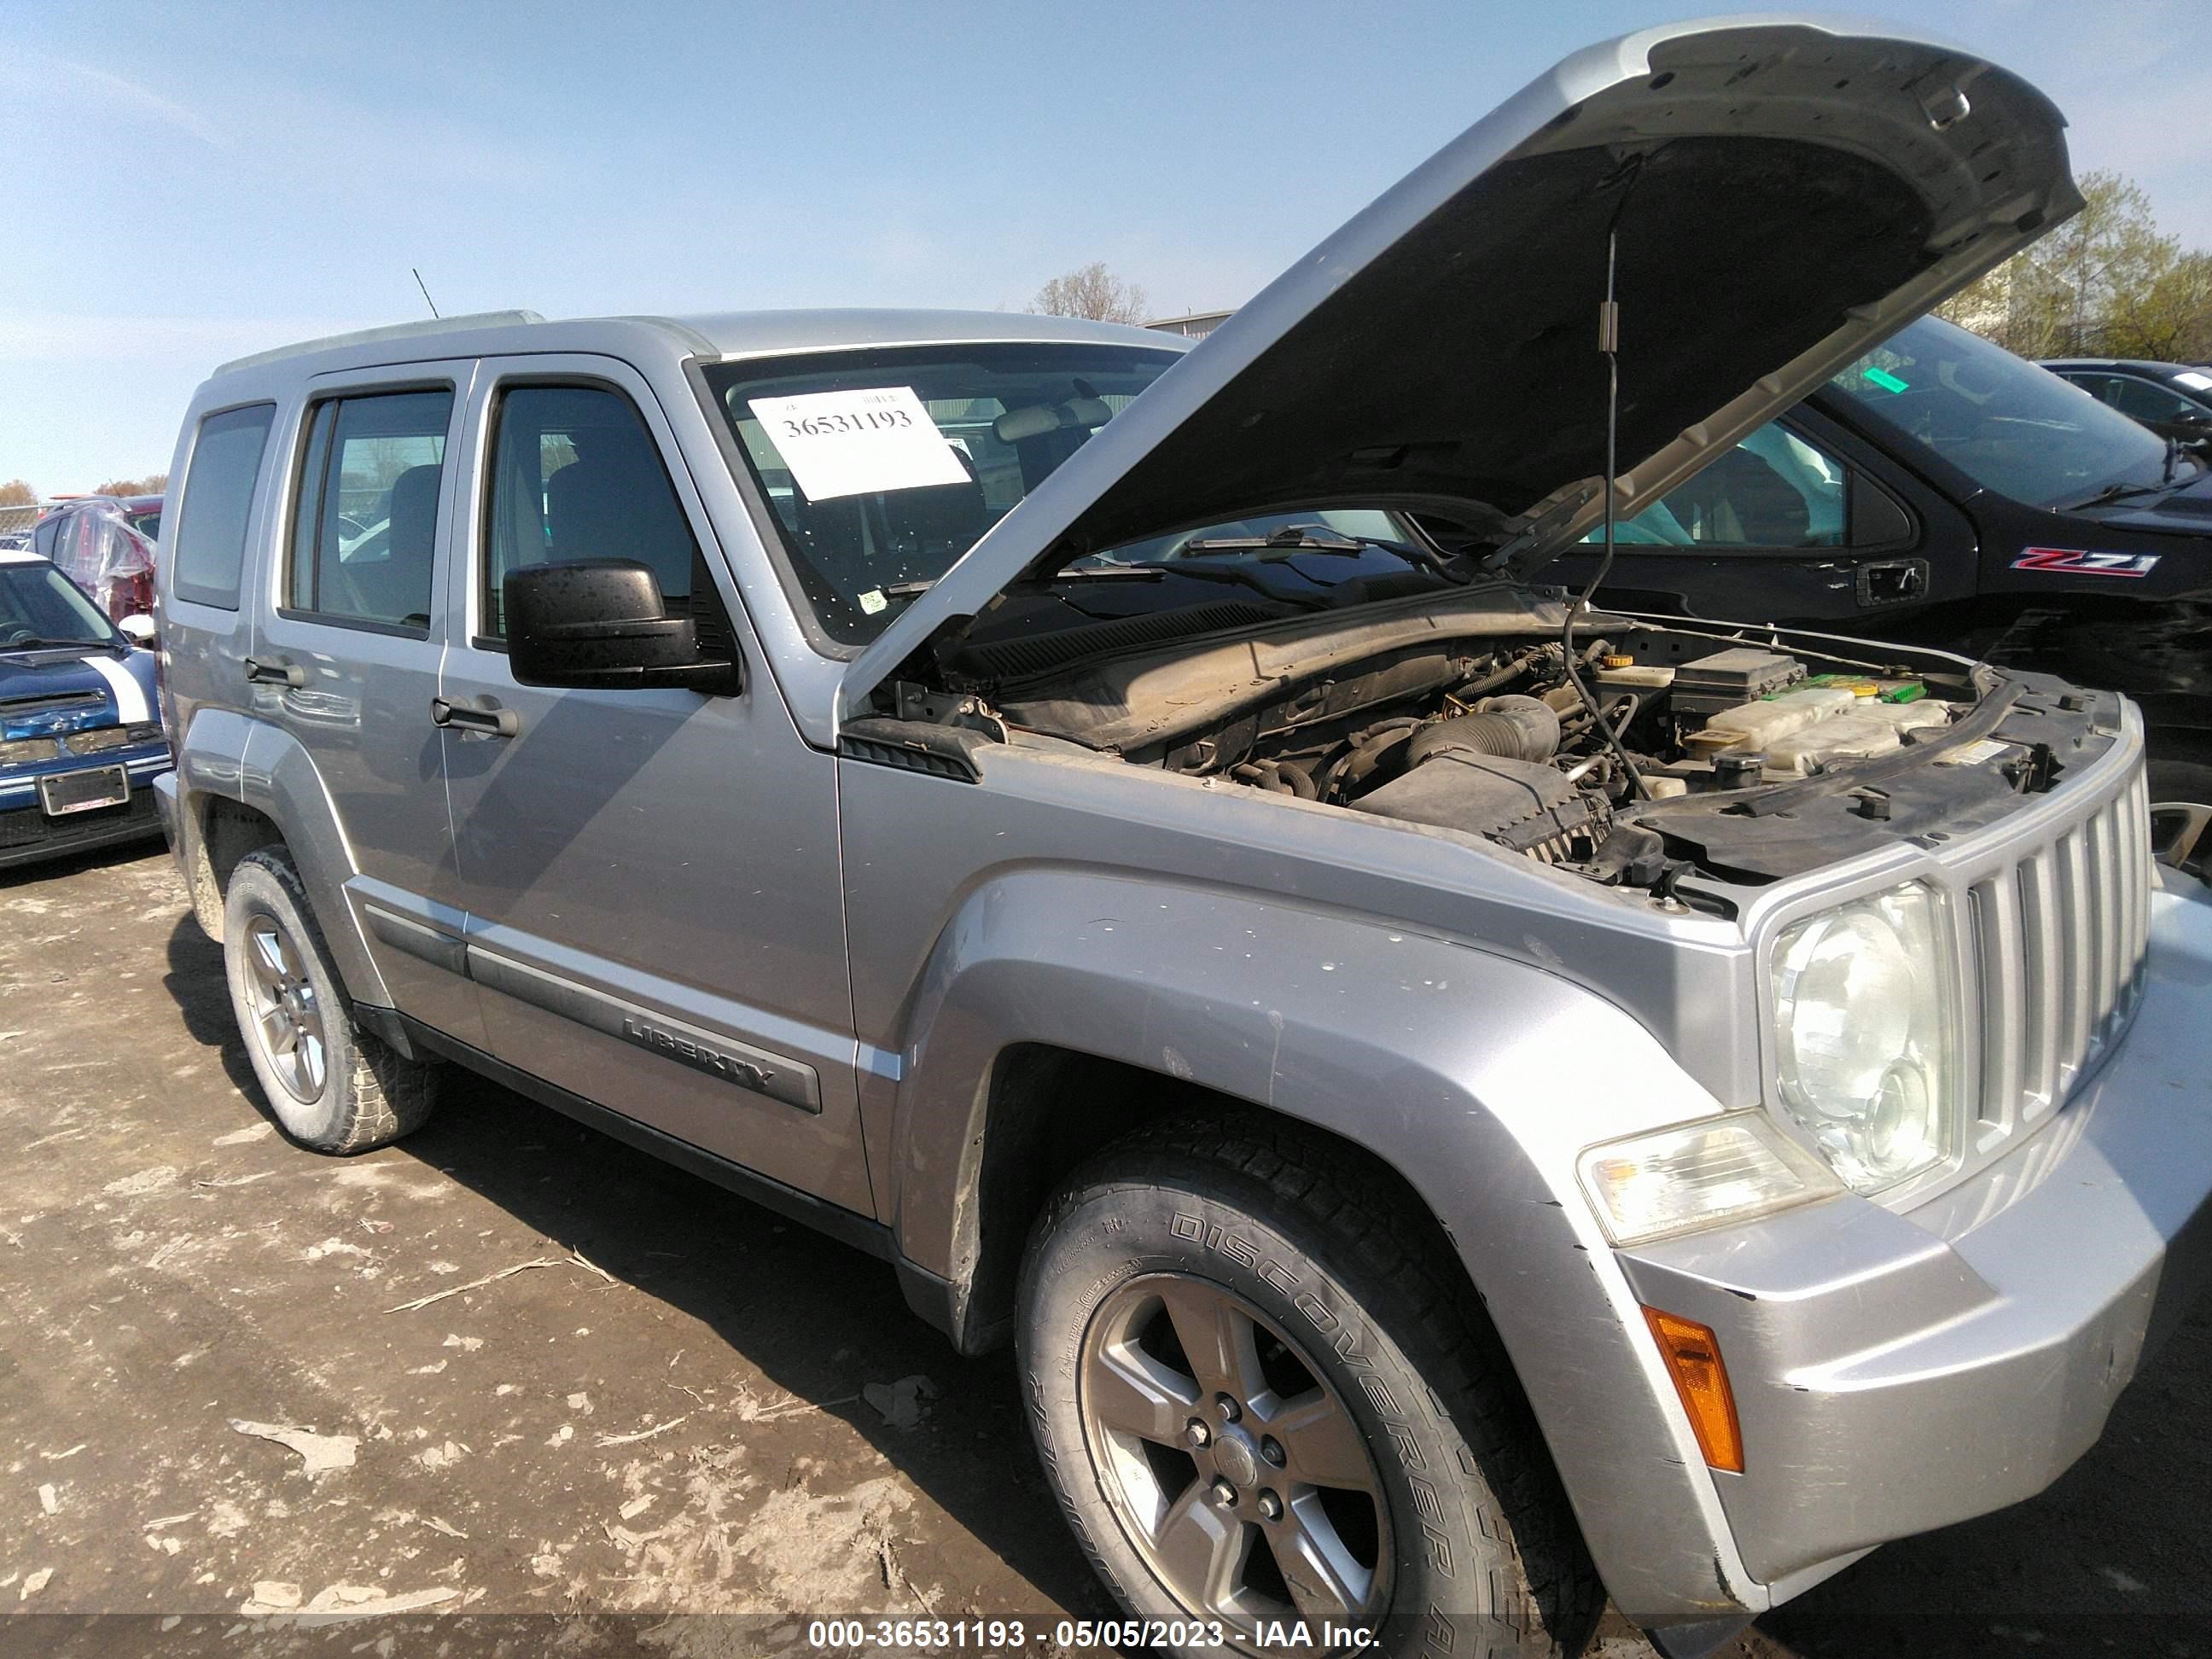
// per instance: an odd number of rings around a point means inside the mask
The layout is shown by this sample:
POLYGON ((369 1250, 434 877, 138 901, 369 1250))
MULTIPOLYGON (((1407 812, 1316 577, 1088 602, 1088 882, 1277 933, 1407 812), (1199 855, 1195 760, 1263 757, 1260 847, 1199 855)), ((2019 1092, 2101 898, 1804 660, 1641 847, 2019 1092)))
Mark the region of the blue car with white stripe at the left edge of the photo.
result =
POLYGON ((0 869, 161 834, 155 672, 51 562, 0 553, 0 869))

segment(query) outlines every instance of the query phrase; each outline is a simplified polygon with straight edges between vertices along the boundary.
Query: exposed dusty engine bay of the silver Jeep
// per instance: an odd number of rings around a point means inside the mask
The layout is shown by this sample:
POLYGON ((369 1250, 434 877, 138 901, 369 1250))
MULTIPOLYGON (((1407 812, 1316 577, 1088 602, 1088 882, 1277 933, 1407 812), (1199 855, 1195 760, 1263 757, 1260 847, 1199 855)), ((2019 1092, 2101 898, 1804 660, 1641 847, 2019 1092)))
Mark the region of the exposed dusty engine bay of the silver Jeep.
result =
POLYGON ((1568 646, 1540 622, 1555 606, 1515 602, 1517 628, 1493 613, 1438 639, 1431 617, 1427 639, 1365 653, 1248 641, 949 695, 900 686, 896 719, 867 726, 1073 741, 1686 902, 1978 827, 2119 730, 2117 697, 2035 675, 1608 615, 1568 646))

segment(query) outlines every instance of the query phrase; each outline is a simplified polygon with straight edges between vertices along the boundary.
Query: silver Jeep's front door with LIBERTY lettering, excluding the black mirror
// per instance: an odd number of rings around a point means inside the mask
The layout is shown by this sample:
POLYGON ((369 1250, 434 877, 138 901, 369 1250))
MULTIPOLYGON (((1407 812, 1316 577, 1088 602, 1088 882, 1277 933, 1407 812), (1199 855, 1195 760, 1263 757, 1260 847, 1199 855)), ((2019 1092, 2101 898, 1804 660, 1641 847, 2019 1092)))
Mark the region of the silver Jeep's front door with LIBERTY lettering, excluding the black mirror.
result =
POLYGON ((872 1212, 834 763, 761 668, 659 403, 608 358, 507 358, 469 431, 445 768, 489 1048, 872 1212), (743 692, 518 686, 502 577, 593 557, 728 628, 743 692))

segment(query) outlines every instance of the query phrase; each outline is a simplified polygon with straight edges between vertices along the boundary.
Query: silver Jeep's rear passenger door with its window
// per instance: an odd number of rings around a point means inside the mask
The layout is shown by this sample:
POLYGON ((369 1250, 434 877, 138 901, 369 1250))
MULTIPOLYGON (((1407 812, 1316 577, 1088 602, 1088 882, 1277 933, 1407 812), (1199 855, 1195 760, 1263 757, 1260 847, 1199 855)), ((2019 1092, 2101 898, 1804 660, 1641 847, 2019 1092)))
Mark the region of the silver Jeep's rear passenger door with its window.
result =
POLYGON ((480 1042, 431 703, 447 648, 456 431, 471 363, 319 376, 248 679, 352 843, 347 900, 403 1013, 480 1042))

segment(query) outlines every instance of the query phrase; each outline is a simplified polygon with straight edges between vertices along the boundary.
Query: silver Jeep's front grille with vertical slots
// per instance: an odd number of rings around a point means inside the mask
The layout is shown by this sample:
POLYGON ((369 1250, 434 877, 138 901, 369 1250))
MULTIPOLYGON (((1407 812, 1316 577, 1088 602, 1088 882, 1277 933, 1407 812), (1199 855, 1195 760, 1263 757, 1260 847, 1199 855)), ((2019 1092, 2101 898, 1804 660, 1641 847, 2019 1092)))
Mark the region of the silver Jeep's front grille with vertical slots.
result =
POLYGON ((1969 889, 1982 1150, 2055 1110, 2135 1013, 2150 938, 2143 770, 1969 889))

